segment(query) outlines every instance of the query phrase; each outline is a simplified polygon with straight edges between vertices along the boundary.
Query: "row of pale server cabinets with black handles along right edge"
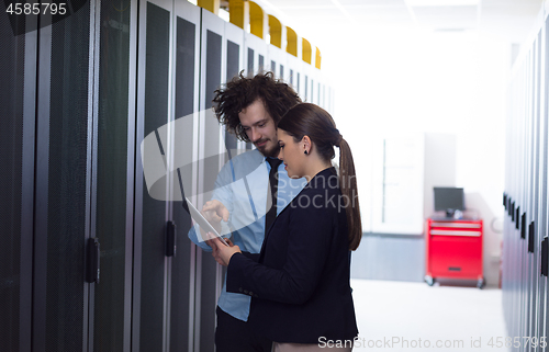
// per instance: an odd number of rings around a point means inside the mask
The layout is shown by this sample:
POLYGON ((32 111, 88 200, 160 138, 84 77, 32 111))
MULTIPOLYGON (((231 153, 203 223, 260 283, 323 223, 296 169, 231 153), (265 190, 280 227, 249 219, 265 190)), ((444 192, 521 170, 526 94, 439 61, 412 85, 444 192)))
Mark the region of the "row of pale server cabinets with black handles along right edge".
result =
POLYGON ((548 18, 541 10, 508 90, 502 288, 513 351, 547 351, 548 18))

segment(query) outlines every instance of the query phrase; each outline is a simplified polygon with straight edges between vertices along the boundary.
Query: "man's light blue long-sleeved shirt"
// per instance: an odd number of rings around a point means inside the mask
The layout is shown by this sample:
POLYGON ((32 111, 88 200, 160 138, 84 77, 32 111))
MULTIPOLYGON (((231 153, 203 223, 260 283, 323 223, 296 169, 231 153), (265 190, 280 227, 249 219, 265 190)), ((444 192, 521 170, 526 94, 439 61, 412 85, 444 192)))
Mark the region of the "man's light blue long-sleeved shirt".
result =
MULTIPOLYGON (((254 149, 225 163, 215 180, 212 200, 223 203, 231 214, 226 224, 222 222, 222 235, 228 237, 233 231, 233 243, 250 253, 259 253, 264 242, 270 169, 266 158, 254 149)), ((283 163, 278 168, 278 174, 277 215, 306 184, 304 178, 290 179, 283 163)), ((191 227, 189 238, 204 251, 211 252, 210 246, 199 240, 198 234, 200 236, 200 229, 195 225, 191 227)), ((225 286, 226 276, 217 300, 219 307, 237 319, 248 320, 250 297, 227 293, 225 286)))

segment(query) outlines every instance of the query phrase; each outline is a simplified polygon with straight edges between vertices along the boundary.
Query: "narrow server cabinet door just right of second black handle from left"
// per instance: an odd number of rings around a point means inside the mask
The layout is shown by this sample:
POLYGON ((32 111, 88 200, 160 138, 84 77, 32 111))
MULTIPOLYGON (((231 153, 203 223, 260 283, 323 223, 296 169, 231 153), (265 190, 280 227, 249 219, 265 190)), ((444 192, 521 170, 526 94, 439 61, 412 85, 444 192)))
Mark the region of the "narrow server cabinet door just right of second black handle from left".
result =
POLYGON ((175 4, 175 130, 172 219, 177 225, 177 252, 171 258, 169 351, 193 351, 195 246, 187 232, 191 226, 182 196, 197 194, 200 8, 187 1, 175 4))

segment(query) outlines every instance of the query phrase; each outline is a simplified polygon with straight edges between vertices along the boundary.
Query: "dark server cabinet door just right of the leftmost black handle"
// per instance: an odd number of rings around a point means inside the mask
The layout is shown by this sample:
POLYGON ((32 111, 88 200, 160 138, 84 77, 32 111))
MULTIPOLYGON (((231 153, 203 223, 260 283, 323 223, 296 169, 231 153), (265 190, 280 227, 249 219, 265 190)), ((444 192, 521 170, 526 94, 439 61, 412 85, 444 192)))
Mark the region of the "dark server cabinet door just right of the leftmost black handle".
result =
POLYGON ((130 351, 137 2, 98 4, 91 228, 101 276, 90 294, 90 351, 130 351))

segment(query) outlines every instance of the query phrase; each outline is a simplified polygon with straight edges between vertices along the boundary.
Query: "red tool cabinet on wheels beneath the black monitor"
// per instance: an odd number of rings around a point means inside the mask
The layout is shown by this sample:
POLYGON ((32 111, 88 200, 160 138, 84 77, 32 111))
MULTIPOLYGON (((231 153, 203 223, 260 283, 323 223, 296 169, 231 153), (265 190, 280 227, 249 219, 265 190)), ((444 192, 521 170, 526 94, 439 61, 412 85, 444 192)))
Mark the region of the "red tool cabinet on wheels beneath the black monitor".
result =
POLYGON ((427 284, 437 277, 477 280, 482 288, 482 220, 427 219, 427 284))

